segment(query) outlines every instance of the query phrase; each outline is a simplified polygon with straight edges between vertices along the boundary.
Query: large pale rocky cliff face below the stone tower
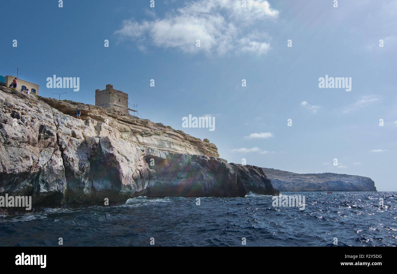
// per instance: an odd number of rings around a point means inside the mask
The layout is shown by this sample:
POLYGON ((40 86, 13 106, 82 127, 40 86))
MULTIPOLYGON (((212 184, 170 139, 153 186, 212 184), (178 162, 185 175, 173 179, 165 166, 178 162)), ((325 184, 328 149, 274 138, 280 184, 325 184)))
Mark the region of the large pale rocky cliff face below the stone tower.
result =
POLYGON ((262 169, 228 164, 208 139, 112 109, 0 90, 0 195, 84 206, 139 195, 279 194, 262 169))

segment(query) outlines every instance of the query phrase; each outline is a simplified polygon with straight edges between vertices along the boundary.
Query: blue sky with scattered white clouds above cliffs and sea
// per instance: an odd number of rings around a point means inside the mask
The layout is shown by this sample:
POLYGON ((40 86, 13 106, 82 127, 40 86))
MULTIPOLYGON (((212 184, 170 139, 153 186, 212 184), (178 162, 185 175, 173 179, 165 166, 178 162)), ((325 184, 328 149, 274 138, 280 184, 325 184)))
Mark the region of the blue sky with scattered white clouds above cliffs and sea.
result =
POLYGON ((40 96, 86 104, 113 84, 141 117, 208 138, 228 162, 397 190, 396 0, 150 5, 3 0, 0 75, 18 64, 40 96), (54 74, 79 77, 79 91, 47 88, 54 74), (351 90, 319 88, 326 75, 351 79, 351 90), (215 117, 214 130, 182 127, 189 114, 215 117))

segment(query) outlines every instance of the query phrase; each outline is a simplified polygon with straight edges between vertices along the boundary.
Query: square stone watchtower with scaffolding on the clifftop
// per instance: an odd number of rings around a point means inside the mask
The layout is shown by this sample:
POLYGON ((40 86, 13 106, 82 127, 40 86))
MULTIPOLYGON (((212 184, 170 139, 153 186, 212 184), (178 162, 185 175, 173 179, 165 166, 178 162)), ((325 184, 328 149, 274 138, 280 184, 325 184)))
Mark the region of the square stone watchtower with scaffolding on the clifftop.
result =
POLYGON ((107 84, 106 89, 95 90, 95 105, 104 108, 114 108, 128 114, 129 110, 132 110, 128 108, 128 94, 114 89, 111 84, 107 84))

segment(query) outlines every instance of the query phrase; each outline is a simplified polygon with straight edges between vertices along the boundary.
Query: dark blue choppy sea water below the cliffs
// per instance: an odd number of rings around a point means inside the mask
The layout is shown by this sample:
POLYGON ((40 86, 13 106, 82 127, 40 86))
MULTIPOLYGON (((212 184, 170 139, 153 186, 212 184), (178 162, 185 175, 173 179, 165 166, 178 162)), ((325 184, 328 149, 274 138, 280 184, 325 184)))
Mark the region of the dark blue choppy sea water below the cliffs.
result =
POLYGON ((283 192, 305 209, 273 207, 272 196, 129 199, 126 205, 42 209, 0 217, 0 245, 395 246, 397 192, 283 192), (384 205, 380 205, 383 198, 384 205))

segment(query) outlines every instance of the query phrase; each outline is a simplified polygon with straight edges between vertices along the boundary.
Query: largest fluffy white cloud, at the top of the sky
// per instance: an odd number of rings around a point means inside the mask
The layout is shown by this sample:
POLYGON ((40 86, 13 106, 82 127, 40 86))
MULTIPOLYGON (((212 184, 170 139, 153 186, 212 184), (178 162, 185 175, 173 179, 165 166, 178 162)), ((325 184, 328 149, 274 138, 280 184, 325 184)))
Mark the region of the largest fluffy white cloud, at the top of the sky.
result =
POLYGON ((258 35, 264 33, 259 22, 277 19, 278 14, 265 0, 247 0, 246 8, 241 7, 241 1, 196 0, 162 18, 124 20, 114 34, 120 40, 137 42, 141 49, 154 45, 177 48, 184 53, 204 51, 222 55, 234 51, 261 55, 268 52, 270 44, 265 41, 269 39, 266 35, 258 35), (200 48, 196 47, 196 40, 200 40, 200 48))

